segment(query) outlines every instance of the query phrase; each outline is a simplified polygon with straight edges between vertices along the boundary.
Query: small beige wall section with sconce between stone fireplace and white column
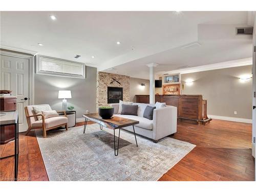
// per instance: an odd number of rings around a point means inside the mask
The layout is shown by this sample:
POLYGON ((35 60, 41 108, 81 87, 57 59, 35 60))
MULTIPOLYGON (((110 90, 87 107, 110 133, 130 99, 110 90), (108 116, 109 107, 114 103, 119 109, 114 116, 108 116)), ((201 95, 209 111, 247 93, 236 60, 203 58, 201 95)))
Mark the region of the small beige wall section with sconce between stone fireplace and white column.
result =
POLYGON ((146 79, 130 78, 130 101, 136 102, 135 95, 150 94, 150 81, 146 79), (145 83, 145 86, 141 86, 145 83))

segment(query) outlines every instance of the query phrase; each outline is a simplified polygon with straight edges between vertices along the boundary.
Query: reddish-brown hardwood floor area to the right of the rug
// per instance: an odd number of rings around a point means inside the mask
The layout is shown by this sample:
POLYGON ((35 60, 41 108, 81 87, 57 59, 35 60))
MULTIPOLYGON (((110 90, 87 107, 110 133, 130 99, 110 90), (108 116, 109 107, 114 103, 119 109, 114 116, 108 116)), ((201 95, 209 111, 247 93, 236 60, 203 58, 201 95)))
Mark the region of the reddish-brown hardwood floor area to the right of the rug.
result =
POLYGON ((254 181, 251 124, 212 120, 179 122, 172 138, 197 146, 159 181, 254 181))

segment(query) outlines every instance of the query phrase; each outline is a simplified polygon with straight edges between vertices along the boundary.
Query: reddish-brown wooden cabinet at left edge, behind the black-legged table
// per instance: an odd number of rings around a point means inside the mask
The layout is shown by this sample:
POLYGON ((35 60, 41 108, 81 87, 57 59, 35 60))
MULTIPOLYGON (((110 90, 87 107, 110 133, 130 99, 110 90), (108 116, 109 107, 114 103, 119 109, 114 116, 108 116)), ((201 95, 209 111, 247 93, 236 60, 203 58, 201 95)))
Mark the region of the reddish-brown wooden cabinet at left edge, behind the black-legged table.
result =
MULTIPOLYGON (((16 110, 16 99, 13 96, 0 97, 0 111, 16 110)), ((0 144, 6 144, 14 140, 14 125, 1 126, 0 129, 0 144)))

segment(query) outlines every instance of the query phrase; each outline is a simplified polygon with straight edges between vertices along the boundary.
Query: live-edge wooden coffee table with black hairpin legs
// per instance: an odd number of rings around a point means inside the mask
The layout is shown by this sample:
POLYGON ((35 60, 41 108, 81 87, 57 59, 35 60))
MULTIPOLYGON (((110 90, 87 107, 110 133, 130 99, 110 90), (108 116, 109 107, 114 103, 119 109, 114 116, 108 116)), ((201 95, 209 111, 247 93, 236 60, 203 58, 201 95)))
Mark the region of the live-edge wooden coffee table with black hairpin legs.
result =
POLYGON ((132 120, 132 119, 126 119, 126 118, 122 118, 122 117, 116 117, 116 116, 113 116, 111 119, 102 119, 99 116, 98 113, 83 114, 82 116, 85 118, 84 119, 84 125, 83 125, 83 134, 86 133, 86 126, 87 126, 88 119, 98 123, 99 127, 100 127, 100 130, 102 130, 103 126, 106 127, 106 128, 114 130, 114 150, 115 150, 115 156, 118 155, 120 130, 123 127, 133 125, 133 132, 134 132, 134 136, 135 136, 135 141, 136 141, 136 145, 138 147, 137 139, 136 139, 136 134, 135 134, 135 130, 134 130, 134 125, 135 124, 139 124, 139 121, 135 121, 135 120, 132 120), (117 152, 116 152, 116 140, 115 140, 115 130, 116 129, 119 129, 118 143, 117 143, 117 152))

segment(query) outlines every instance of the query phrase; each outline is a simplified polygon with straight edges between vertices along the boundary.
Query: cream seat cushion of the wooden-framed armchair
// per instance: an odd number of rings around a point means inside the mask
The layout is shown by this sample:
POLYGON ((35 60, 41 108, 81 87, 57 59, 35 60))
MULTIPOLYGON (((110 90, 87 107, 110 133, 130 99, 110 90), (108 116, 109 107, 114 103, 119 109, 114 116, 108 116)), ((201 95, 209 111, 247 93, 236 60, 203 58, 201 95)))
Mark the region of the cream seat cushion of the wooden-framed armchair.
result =
MULTIPOLYGON (((67 123, 67 122, 68 122, 68 118, 67 117, 61 117, 61 116, 51 117, 51 118, 45 119, 46 128, 57 126, 57 125, 64 124, 64 123, 67 123)), ((41 127, 42 126, 42 120, 38 120, 38 121, 35 121, 35 122, 31 123, 31 126, 32 127, 38 127, 38 126, 41 127)))

